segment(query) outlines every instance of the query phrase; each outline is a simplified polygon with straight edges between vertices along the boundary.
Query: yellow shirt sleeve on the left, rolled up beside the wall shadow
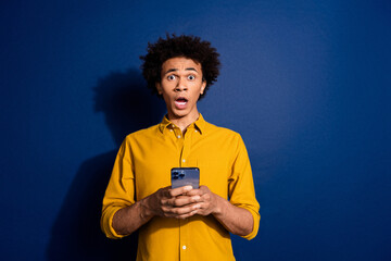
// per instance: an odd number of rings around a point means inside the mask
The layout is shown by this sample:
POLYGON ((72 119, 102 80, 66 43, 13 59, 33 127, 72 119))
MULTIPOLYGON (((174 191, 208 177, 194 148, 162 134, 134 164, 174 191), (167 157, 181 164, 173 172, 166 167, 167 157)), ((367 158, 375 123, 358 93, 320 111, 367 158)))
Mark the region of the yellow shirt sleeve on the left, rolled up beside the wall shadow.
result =
POLYGON ((113 216, 119 209, 135 203, 135 176, 127 139, 122 144, 103 198, 101 228, 109 238, 122 238, 113 226, 113 216))

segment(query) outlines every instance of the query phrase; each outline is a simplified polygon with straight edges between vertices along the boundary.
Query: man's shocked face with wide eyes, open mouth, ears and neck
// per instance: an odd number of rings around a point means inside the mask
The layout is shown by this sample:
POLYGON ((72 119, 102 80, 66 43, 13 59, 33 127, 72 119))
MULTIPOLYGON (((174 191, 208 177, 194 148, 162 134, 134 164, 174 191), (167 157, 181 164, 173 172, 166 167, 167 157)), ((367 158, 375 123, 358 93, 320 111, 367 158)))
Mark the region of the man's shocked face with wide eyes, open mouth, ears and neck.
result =
POLYGON ((201 64, 187 58, 168 59, 162 65, 161 78, 156 89, 164 98, 168 119, 197 120, 197 101, 206 86, 202 80, 201 64))

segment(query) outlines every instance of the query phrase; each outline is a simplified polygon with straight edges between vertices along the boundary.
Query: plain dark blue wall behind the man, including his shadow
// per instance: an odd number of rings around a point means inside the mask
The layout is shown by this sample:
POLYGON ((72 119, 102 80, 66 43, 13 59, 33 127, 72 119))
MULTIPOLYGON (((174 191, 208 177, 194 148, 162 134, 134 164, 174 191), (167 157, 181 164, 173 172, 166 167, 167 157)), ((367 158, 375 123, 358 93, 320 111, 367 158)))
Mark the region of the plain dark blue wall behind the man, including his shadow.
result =
MULTIPOLYGON (((2 1, 2 260, 135 257, 100 204, 121 140, 160 122, 139 55, 222 54, 200 111, 239 132, 261 203, 238 260, 391 260, 390 1, 2 1)), ((131 247, 131 246, 133 247, 131 247)))

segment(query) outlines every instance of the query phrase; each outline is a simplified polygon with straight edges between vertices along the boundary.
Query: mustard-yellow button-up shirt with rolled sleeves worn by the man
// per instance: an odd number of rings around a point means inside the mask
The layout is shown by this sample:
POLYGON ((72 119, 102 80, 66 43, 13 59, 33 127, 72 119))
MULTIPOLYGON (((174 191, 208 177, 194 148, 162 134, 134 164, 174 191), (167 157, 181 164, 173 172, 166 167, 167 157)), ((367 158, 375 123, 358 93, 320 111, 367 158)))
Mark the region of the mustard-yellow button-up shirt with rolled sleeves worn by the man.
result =
MULTIPOLYGON (((249 157, 239 134, 205 122, 200 114, 185 135, 166 117, 133 133, 122 144, 103 199, 102 231, 121 238, 112 227, 114 213, 171 185, 171 169, 197 166, 200 185, 251 212, 255 237, 260 206, 255 199, 249 157)), ((137 260, 235 260, 228 231, 213 216, 186 220, 154 216, 139 228, 137 260)))

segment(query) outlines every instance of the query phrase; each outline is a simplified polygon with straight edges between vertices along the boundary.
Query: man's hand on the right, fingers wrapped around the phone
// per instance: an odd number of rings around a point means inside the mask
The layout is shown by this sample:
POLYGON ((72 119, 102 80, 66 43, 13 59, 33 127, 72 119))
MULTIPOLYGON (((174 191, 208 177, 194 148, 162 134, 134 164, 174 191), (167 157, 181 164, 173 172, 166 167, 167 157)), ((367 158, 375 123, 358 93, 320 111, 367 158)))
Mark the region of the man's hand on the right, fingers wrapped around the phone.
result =
POLYGON ((186 196, 190 196, 197 201, 194 204, 199 208, 194 210, 194 214, 209 215, 220 212, 219 199, 222 198, 212 192, 206 186, 200 186, 199 189, 191 189, 186 196), (199 198, 197 198, 197 196, 199 196, 199 198))

